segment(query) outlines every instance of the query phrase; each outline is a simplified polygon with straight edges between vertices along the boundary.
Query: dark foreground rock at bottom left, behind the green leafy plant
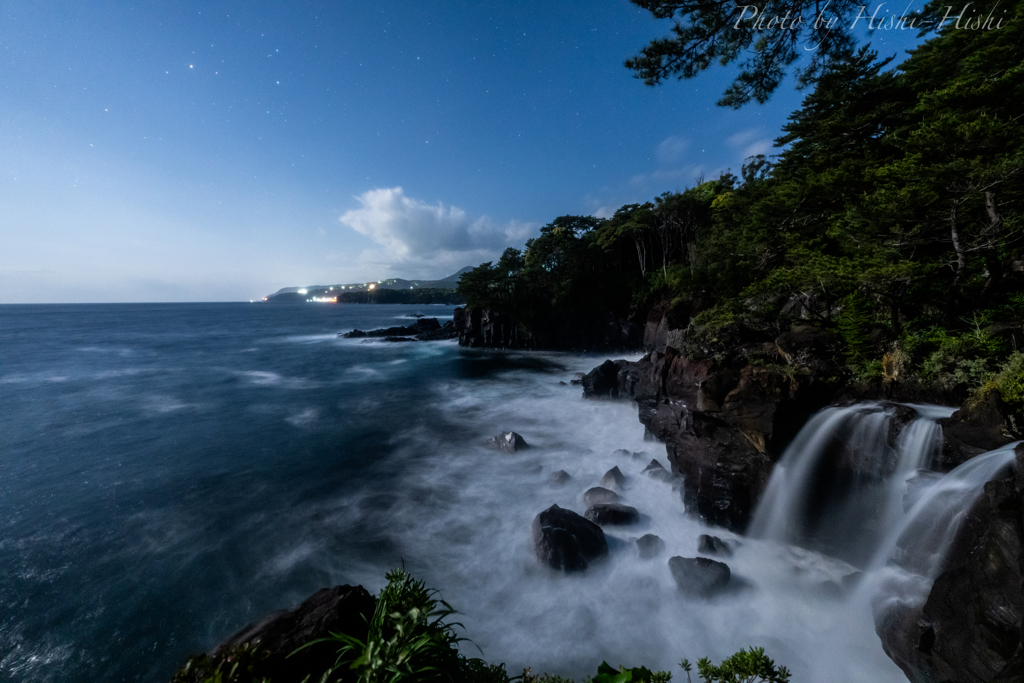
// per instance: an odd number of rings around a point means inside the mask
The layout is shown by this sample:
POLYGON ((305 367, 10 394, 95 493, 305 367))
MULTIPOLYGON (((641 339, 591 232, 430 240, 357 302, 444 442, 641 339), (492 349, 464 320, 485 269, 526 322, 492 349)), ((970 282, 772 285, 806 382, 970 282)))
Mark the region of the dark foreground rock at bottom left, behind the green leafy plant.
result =
MULTIPOLYGON (((174 683, 209 680, 218 666, 226 670, 231 661, 239 663, 242 648, 252 651, 248 655, 253 667, 252 680, 264 677, 275 683, 300 683, 306 677, 319 680, 338 658, 336 644, 316 643, 295 655, 292 653, 332 633, 366 639, 367 624, 373 612, 374 598, 361 586, 322 589, 295 609, 273 612, 253 622, 212 653, 189 657, 186 666, 175 675, 174 683)), ((342 680, 354 678, 342 674, 342 680)))

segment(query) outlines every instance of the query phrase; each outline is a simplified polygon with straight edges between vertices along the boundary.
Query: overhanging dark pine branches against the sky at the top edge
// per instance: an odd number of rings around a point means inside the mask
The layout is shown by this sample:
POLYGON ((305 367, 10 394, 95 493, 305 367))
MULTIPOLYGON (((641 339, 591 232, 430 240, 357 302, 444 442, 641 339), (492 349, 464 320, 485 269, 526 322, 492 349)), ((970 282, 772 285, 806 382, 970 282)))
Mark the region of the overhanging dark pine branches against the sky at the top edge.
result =
MULTIPOLYGON (((626 68, 647 85, 689 79, 714 62, 739 61, 740 73, 719 105, 764 103, 801 55, 798 87, 814 83, 853 49, 852 30, 870 17, 860 0, 632 0, 655 18, 672 19, 672 36, 651 41, 626 68)), ((876 17, 878 18, 878 17, 876 17)))

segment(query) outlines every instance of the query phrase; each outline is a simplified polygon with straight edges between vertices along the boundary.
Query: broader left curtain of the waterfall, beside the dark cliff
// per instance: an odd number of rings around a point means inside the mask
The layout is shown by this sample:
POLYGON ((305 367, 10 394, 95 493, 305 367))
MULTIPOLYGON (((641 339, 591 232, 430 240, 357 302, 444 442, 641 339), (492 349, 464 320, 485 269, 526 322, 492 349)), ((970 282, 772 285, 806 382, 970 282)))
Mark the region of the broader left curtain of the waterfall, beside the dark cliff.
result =
POLYGON ((953 409, 857 403, 819 412, 785 450, 750 535, 865 565, 903 516, 907 480, 941 449, 953 409), (893 437, 894 419, 913 419, 893 437))

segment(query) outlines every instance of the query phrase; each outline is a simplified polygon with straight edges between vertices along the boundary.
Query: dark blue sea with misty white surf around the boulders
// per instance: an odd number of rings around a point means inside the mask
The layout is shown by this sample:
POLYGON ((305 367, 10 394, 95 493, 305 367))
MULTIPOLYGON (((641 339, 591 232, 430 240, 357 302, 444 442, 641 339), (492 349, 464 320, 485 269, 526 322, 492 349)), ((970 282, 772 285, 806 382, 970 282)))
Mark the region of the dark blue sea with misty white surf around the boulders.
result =
POLYGON ((668 462, 635 404, 567 384, 605 356, 336 336, 451 310, 0 307, 0 679, 166 681, 246 623, 324 586, 376 592, 404 561, 513 673, 582 680, 606 658, 678 677, 683 656, 761 645, 797 681, 904 680, 869 601, 837 597, 840 560, 740 539, 726 561, 745 588, 679 595, 669 557, 736 539, 640 474, 668 462), (487 451, 505 429, 534 447, 487 451), (534 516, 583 513, 616 465, 641 524, 609 529, 583 575, 540 565, 534 516), (572 478, 552 487, 558 469, 572 478), (647 532, 667 552, 641 561, 629 540, 647 532))

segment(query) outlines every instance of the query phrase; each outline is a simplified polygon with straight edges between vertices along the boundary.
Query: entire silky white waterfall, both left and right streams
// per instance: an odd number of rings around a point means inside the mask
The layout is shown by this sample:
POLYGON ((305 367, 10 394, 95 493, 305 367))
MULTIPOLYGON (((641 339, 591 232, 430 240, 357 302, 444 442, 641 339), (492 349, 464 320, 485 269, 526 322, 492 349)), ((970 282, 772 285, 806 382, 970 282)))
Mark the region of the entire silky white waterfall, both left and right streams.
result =
POLYGON ((861 566, 851 604, 870 604, 877 622, 920 606, 985 483, 1016 462, 1019 442, 946 474, 931 471, 942 447, 938 420, 952 412, 892 403, 821 411, 782 455, 750 535, 861 566), (907 409, 913 419, 894 437, 894 419, 907 409))

